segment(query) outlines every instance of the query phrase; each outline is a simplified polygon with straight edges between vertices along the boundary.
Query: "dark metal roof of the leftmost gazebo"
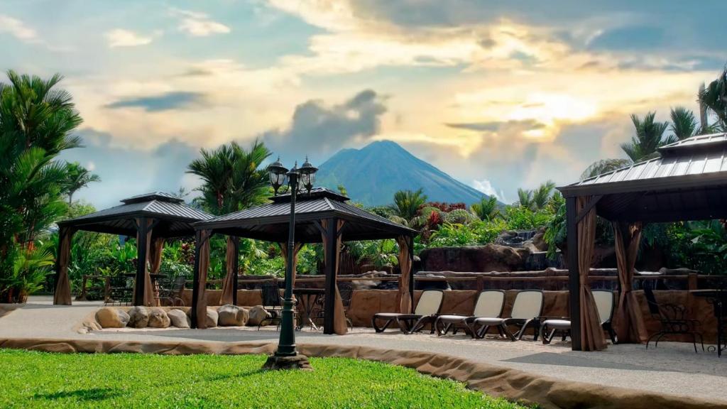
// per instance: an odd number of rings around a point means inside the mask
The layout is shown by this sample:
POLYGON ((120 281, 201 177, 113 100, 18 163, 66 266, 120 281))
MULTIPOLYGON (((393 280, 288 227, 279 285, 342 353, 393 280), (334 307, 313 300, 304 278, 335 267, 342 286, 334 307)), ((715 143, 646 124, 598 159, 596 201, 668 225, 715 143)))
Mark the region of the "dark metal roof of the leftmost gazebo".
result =
POLYGON ((158 221, 154 227, 156 237, 182 237, 194 235, 192 223, 212 218, 209 213, 189 207, 183 199, 161 191, 132 196, 121 200, 121 203, 119 206, 60 221, 58 226, 135 236, 135 220, 151 218, 158 221))

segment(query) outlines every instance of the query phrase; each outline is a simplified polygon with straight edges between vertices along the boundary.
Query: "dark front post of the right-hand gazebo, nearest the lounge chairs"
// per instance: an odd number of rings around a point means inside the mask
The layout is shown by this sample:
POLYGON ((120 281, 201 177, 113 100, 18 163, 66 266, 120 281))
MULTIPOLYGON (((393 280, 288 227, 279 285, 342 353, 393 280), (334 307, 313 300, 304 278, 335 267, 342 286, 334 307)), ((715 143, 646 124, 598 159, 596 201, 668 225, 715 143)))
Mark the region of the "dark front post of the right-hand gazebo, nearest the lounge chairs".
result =
POLYGON ((578 272, 577 196, 566 198, 566 233, 568 234, 568 292, 571 310, 571 349, 581 350, 581 298, 578 272))

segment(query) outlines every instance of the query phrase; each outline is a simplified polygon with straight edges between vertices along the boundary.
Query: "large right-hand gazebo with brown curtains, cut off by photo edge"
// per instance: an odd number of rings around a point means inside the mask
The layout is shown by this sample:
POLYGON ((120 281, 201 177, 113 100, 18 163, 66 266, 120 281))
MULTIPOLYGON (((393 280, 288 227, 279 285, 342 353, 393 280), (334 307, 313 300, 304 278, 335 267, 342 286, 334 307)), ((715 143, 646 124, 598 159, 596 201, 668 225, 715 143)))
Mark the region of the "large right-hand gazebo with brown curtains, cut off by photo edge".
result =
POLYGON ((588 279, 596 215, 614 226, 619 271, 614 320, 619 342, 646 341, 632 293, 643 224, 727 218, 726 154, 727 134, 694 136, 662 146, 655 159, 558 188, 566 198, 574 350, 605 347, 588 279))

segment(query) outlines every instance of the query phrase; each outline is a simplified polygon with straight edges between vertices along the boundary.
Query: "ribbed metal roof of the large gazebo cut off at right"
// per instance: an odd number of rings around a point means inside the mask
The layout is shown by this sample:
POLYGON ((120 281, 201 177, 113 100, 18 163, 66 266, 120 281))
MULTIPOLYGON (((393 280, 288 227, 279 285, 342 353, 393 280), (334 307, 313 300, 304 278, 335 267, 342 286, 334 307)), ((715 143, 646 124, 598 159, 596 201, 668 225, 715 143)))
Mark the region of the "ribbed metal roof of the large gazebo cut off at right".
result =
POLYGON ((598 196, 611 221, 727 218, 727 134, 699 135, 659 148, 659 157, 558 188, 598 196))

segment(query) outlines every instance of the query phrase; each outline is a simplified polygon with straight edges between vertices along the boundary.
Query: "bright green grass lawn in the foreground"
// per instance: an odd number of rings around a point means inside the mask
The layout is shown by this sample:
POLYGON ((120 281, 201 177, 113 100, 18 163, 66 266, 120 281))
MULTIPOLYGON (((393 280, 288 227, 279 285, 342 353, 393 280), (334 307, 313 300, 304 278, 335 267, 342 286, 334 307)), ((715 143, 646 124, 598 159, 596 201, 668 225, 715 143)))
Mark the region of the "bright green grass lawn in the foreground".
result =
POLYGON ((379 362, 313 358, 313 372, 262 371, 264 362, 0 349, 0 408, 523 408, 379 362))

